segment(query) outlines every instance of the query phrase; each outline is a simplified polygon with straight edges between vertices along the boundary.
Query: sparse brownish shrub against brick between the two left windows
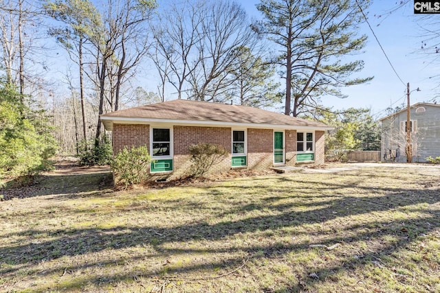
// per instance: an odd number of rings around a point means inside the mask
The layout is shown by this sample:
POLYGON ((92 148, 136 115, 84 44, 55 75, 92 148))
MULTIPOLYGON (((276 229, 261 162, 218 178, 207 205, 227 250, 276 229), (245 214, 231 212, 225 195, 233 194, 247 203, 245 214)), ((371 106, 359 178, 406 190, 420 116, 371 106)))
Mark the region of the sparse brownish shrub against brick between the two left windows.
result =
POLYGON ((213 165, 217 165, 228 155, 228 151, 222 145, 213 143, 191 145, 189 152, 191 155, 190 177, 194 178, 202 177, 213 165))

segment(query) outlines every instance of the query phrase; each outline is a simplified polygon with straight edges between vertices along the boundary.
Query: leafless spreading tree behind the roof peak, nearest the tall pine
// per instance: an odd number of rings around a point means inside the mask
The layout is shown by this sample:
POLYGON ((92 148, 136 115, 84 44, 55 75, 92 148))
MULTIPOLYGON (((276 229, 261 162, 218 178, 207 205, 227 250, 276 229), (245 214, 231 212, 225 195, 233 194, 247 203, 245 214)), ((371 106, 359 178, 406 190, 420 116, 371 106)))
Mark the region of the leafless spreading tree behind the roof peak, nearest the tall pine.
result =
POLYGON ((202 42, 197 44, 200 66, 192 71, 192 98, 221 101, 230 88, 228 78, 236 65, 240 47, 253 51, 257 35, 252 31, 245 10, 234 1, 209 3, 202 23, 202 42))

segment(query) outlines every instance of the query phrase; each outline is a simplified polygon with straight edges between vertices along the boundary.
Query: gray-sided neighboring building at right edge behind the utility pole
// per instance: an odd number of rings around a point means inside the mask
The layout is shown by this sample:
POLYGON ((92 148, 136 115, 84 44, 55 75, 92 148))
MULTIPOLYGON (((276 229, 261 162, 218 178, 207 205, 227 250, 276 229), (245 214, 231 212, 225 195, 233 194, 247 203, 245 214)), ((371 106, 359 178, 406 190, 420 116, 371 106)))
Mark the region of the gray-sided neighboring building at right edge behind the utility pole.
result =
MULTIPOLYGON (((417 103, 410 111, 412 161, 440 156, 440 105, 417 103)), ((406 162, 406 108, 382 122, 382 161, 406 162)))

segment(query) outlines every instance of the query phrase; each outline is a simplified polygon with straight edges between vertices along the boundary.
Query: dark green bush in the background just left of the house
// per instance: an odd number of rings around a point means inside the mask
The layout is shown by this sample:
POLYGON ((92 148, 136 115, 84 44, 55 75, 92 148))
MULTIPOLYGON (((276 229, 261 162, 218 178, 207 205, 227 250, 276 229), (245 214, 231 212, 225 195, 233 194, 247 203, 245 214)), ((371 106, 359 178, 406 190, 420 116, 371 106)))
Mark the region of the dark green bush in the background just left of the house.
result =
POLYGON ((104 135, 100 139, 98 145, 93 145, 89 148, 85 143, 80 147, 79 164, 81 166, 94 166, 94 165, 110 165, 113 157, 113 150, 111 149, 111 143, 107 135, 104 135))

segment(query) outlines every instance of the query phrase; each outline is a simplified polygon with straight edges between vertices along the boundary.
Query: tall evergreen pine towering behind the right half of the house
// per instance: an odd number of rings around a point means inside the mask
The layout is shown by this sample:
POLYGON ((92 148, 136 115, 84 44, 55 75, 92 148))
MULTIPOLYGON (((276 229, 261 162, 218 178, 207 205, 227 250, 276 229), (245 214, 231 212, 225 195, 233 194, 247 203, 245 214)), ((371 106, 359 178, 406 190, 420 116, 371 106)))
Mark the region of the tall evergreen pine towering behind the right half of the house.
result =
MULTIPOLYGON (((368 0, 358 0, 364 8, 368 0)), ((362 14, 353 0, 261 0, 256 6, 264 21, 254 30, 267 35, 277 51, 273 62, 283 69, 285 115, 297 116, 317 106, 323 95, 344 97, 342 86, 371 78, 353 78, 364 62, 341 62, 360 51, 366 36, 358 36, 362 14)))

